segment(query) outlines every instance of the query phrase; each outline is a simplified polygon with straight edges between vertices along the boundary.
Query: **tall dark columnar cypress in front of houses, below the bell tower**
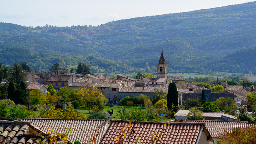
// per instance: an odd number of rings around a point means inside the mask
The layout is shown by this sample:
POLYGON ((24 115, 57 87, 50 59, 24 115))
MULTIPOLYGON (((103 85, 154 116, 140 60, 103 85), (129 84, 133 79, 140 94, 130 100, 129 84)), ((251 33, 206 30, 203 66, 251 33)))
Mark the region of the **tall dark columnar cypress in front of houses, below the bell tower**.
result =
POLYGON ((175 83, 174 82, 170 83, 168 87, 168 93, 167 93, 167 108, 171 109, 172 104, 178 107, 178 104, 179 104, 178 98, 179 98, 179 93, 175 83))

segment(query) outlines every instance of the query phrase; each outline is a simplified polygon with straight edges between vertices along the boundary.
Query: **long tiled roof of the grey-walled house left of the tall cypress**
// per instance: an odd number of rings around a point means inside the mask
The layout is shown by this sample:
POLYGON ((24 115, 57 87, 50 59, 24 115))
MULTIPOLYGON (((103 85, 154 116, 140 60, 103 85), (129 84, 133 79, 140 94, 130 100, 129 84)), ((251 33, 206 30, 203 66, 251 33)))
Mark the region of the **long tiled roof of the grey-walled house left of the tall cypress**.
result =
POLYGON ((122 87, 121 90, 119 92, 146 92, 146 93, 150 93, 150 92, 154 92, 155 89, 157 90, 163 90, 164 93, 167 93, 168 91, 168 87, 139 87, 139 86, 134 86, 134 87, 122 87))

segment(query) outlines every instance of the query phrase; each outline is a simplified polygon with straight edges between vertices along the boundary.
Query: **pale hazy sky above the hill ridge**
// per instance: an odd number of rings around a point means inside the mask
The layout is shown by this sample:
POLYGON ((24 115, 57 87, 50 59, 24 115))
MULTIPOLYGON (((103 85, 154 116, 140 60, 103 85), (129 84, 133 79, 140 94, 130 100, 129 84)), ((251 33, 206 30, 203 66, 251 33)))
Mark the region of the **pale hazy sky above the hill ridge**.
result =
POLYGON ((113 20, 189 12, 251 0, 5 0, 0 22, 22 26, 98 26, 113 20))

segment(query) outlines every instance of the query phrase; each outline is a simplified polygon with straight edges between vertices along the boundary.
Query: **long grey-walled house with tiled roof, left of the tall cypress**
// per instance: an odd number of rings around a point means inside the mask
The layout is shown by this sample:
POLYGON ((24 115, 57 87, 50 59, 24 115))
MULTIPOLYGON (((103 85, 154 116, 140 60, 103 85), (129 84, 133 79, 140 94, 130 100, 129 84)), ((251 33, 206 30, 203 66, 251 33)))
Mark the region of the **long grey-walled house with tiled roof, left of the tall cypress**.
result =
POLYGON ((150 96, 152 92, 155 92, 156 90, 163 91, 164 93, 168 92, 167 87, 148 87, 148 86, 134 86, 134 87, 122 87, 121 90, 119 91, 119 100, 127 97, 127 96, 132 96, 136 95, 139 96, 140 94, 144 94, 146 96, 150 96))

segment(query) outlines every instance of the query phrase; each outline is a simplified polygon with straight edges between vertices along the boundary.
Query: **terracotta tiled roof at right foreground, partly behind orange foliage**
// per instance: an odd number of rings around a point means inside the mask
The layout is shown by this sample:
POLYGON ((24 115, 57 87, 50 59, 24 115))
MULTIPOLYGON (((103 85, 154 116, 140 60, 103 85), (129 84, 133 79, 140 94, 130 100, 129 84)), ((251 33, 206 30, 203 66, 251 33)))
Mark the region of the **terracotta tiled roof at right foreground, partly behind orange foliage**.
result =
POLYGON ((224 130, 231 132, 234 128, 252 127, 254 123, 247 121, 206 121, 206 120, 192 120, 193 123, 204 123, 205 127, 213 138, 218 138, 224 134, 224 130))

